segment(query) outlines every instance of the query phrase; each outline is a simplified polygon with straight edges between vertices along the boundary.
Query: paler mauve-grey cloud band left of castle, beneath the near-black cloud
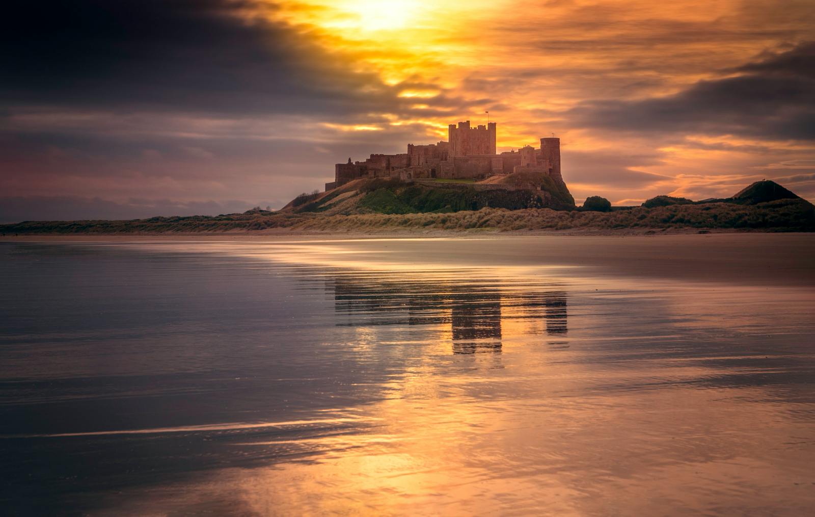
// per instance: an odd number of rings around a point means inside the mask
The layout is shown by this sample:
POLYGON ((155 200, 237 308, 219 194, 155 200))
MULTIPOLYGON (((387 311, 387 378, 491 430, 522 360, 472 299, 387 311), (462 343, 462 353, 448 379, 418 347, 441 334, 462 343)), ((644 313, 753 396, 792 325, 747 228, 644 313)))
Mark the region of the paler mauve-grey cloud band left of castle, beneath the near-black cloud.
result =
POLYGON ((348 157, 405 152, 405 143, 419 130, 315 130, 315 139, 306 140, 264 138, 266 126, 260 135, 237 130, 233 135, 230 126, 207 138, 188 138, 152 131, 172 126, 171 118, 144 122, 148 126, 122 122, 123 128, 93 130, 91 120, 73 130, 0 131, 2 220, 212 215, 253 205, 276 209, 332 181, 333 164, 348 157), (164 197, 172 201, 161 201, 164 197))

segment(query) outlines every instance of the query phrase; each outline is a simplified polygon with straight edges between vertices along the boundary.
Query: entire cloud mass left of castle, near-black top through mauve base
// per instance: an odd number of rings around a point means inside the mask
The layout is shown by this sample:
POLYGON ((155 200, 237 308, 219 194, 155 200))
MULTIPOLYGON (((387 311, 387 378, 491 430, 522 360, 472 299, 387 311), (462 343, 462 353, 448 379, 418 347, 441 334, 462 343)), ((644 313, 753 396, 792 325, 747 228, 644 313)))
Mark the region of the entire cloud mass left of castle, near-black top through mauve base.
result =
POLYGON ((280 207, 333 179, 334 163, 404 152, 427 130, 353 132, 324 122, 385 122, 372 114, 409 115, 418 103, 431 105, 421 110, 428 117, 482 102, 450 92, 400 98, 404 88, 433 85, 385 85, 350 66, 354 56, 325 50, 319 34, 270 21, 270 9, 273 3, 258 0, 6 7, 3 217, 218 214, 245 210, 255 196, 280 207), (182 201, 134 205, 122 201, 128 196, 182 201), (206 199, 214 205, 191 201, 206 199))

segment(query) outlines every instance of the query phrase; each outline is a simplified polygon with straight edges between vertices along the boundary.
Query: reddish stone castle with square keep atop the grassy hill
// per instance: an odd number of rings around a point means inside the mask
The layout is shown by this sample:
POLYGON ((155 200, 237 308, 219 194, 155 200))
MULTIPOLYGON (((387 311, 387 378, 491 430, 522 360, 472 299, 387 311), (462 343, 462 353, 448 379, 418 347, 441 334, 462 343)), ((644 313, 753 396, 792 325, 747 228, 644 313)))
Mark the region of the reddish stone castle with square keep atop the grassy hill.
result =
POLYGON ((407 144, 400 154, 372 154, 365 161, 338 163, 331 190, 359 178, 486 179, 513 172, 540 172, 563 183, 560 166, 560 139, 540 139, 540 148, 527 145, 510 152, 496 152, 496 122, 470 127, 469 121, 451 124, 447 142, 429 145, 407 144))

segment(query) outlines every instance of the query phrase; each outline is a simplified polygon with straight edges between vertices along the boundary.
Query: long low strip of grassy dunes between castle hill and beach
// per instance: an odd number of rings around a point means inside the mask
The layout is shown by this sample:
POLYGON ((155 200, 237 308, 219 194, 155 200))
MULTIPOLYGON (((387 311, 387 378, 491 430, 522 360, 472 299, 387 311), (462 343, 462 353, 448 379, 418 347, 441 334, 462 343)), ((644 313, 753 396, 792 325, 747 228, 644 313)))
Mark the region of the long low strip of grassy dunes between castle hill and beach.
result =
POLYGON ((482 208, 407 214, 293 214, 249 210, 218 216, 127 221, 26 221, 0 235, 449 235, 484 233, 651 235, 698 232, 815 232, 815 207, 800 198, 756 204, 711 202, 628 210, 482 208))

